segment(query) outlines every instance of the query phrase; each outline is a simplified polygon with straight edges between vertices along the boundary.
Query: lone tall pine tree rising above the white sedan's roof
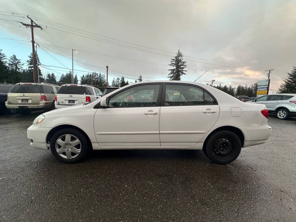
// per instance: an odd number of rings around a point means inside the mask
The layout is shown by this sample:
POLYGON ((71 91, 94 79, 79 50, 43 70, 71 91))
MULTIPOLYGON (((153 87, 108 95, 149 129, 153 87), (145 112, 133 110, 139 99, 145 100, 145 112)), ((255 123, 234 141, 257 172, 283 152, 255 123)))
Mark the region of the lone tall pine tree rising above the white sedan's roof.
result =
POLYGON ((181 76, 186 75, 187 67, 186 61, 183 60, 183 54, 178 50, 177 55, 171 59, 170 66, 174 67, 168 69, 170 71, 168 78, 170 80, 181 80, 181 76))

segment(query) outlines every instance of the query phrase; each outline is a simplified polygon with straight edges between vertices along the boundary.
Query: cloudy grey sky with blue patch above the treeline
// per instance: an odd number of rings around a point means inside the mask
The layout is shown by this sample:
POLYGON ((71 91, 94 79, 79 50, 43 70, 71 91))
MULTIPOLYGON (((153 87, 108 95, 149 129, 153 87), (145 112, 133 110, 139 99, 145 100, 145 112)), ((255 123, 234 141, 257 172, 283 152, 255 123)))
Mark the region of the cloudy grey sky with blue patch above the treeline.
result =
POLYGON ((285 0, 0 0, 0 49, 27 60, 31 32, 18 21, 29 23, 29 15, 43 27, 34 29, 40 62, 52 70, 43 75, 59 79, 72 69, 73 48, 78 77, 108 65, 109 78, 165 80, 179 49, 188 70, 182 80, 208 71, 199 82, 250 85, 275 69, 276 90, 296 63, 295 8, 285 0))

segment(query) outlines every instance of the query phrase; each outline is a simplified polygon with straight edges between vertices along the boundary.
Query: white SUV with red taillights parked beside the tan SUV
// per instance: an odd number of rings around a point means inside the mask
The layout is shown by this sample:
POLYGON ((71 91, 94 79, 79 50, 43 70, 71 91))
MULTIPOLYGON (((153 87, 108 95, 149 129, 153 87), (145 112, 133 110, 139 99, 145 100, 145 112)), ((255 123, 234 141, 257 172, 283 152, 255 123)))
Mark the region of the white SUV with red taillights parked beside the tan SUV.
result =
POLYGON ((100 89, 84 84, 64 84, 55 95, 55 108, 93 102, 101 98, 100 89))

